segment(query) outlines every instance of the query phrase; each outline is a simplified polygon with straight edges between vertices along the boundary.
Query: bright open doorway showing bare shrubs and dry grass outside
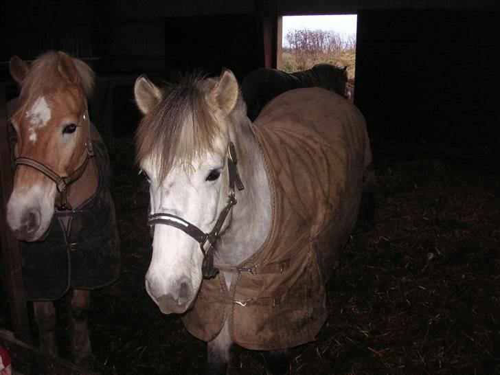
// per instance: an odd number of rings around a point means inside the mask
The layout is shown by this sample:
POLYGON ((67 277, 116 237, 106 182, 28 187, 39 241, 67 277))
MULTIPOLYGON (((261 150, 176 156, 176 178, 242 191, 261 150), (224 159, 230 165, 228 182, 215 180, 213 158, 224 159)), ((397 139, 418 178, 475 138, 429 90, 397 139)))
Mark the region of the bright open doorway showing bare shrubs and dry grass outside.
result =
POLYGON ((347 67, 353 100, 356 79, 356 27, 356 14, 283 16, 277 69, 295 73, 310 69, 319 63, 347 67))

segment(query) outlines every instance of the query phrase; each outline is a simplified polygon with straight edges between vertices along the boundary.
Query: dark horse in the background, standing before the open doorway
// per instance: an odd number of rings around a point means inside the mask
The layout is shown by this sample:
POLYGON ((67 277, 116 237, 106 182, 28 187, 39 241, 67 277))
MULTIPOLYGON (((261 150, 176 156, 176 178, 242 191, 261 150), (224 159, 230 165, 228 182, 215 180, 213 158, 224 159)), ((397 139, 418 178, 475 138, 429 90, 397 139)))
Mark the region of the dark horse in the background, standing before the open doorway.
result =
POLYGON ((301 87, 322 87, 347 98, 347 67, 317 64, 311 69, 286 73, 277 69, 259 68, 251 71, 241 84, 247 115, 255 120, 264 106, 280 93, 301 87))

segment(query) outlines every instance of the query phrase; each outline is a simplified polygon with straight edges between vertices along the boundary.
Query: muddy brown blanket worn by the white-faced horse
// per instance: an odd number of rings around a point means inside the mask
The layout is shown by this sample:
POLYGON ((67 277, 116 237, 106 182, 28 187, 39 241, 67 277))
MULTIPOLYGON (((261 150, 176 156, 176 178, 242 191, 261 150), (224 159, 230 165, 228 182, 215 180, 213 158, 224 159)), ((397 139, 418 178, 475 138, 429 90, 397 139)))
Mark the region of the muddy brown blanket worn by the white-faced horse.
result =
POLYGON ((271 183, 271 233, 240 264, 251 272, 238 273, 230 291, 223 275, 203 280, 183 322, 204 341, 227 320, 244 348, 291 348, 315 340, 326 319, 324 284, 354 227, 363 185, 373 179, 370 142, 356 107, 319 88, 275 98, 253 133, 271 183))

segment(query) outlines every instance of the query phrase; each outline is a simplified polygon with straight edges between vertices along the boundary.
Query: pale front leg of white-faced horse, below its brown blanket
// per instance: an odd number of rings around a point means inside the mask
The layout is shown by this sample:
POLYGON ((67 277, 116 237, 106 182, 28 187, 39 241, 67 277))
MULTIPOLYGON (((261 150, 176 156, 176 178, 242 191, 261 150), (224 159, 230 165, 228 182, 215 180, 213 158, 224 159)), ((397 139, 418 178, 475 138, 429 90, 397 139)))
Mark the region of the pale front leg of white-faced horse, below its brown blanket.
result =
POLYGON ((218 336, 209 341, 207 345, 207 374, 231 374, 234 372, 235 366, 231 358, 232 345, 226 321, 218 336))

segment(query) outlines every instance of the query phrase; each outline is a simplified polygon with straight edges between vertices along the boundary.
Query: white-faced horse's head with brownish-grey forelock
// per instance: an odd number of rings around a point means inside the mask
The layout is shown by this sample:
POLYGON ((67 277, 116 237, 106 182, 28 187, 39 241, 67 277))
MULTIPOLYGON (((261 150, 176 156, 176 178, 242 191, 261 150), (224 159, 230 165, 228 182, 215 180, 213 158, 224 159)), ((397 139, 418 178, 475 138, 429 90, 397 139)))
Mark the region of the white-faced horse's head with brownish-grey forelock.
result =
POLYGON ((231 124, 245 118, 245 104, 231 71, 163 89, 140 77, 135 101, 144 113, 137 161, 150 183, 155 229, 146 290, 162 312, 180 313, 192 305, 203 279, 207 246, 200 246, 200 237, 227 207, 231 124))

